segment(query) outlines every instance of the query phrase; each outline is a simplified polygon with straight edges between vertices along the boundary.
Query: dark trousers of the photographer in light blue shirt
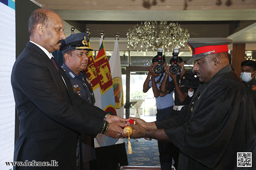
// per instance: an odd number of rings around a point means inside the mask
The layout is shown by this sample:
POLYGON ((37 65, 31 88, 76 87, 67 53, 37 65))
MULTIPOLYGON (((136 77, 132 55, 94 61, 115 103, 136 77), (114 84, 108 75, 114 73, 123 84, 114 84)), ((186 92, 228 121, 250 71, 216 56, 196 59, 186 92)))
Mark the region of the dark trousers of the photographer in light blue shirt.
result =
MULTIPOLYGON (((173 112, 173 106, 157 110, 156 121, 168 119, 173 112)), ((161 170, 171 170, 174 159, 174 167, 177 169, 180 150, 171 142, 158 141, 158 150, 161 170)))

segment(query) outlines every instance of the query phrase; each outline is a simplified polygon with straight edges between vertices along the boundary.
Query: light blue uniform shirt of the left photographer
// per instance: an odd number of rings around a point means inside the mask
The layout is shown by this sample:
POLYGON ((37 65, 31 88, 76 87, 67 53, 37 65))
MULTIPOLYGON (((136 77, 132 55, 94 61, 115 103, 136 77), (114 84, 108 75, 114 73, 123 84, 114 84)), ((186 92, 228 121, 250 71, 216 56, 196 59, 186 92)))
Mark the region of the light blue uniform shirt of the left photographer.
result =
MULTIPOLYGON (((157 83, 157 80, 160 79, 160 75, 155 77, 156 86, 158 90, 160 90, 161 82, 163 81, 165 73, 163 73, 163 77, 161 78, 160 83, 157 83)), ((172 78, 169 76, 169 81, 171 81, 172 78)), ((168 80, 167 80, 168 81, 168 80)), ((149 80, 148 86, 152 87, 152 80, 149 80)), ((156 97, 156 108, 158 110, 168 108, 170 106, 173 106, 174 100, 173 100, 173 91, 163 97, 156 97)))

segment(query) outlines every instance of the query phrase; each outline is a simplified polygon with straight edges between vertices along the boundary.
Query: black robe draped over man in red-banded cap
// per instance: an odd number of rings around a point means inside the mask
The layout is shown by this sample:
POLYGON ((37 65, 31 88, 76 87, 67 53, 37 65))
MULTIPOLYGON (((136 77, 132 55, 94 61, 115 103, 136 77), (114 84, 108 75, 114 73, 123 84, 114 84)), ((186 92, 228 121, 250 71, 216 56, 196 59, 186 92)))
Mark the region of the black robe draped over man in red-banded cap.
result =
POLYGON ((237 152, 250 151, 256 157, 255 108, 241 85, 219 76, 208 84, 192 113, 186 106, 180 115, 156 125, 165 129, 182 152, 203 165, 211 169, 234 169, 237 152))

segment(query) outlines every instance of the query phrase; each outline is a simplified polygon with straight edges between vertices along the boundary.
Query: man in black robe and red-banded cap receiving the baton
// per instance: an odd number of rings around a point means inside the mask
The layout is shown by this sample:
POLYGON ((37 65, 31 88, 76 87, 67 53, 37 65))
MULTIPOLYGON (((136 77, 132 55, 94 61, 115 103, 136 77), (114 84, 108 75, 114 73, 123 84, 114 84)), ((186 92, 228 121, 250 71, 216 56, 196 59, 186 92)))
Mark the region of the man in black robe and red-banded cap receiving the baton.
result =
POLYGON ((131 125, 131 137, 171 141, 180 149, 180 170, 240 169, 237 152, 252 152, 248 169, 256 169, 256 111, 249 91, 231 71, 231 43, 226 38, 190 38, 193 55, 188 62, 196 61, 193 69, 204 84, 178 115, 149 123, 132 118, 137 125, 131 125))

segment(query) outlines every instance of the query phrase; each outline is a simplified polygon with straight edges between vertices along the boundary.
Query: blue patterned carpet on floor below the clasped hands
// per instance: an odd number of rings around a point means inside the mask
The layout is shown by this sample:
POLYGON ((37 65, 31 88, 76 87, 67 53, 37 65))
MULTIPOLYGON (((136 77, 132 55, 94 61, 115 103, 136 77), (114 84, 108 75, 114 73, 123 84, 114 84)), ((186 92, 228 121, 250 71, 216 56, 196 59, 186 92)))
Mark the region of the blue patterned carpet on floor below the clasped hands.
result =
MULTIPOLYGON (((160 166, 157 140, 131 139, 132 154, 127 154, 129 166, 160 166)), ((127 141, 124 139, 127 151, 127 141)))

